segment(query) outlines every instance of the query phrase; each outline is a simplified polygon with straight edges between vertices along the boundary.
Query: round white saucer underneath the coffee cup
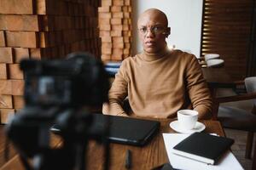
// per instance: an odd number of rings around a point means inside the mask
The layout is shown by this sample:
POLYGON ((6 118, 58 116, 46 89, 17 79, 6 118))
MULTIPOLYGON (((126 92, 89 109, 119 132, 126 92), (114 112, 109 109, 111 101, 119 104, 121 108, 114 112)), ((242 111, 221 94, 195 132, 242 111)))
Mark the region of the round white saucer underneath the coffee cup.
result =
POLYGON ((203 131, 206 128, 206 125, 204 125, 201 122, 196 122, 194 128, 190 130, 186 130, 186 129, 183 129, 182 127, 179 127, 179 124, 177 121, 173 121, 170 123, 170 127, 173 130, 175 130, 177 133, 195 133, 195 132, 203 131))

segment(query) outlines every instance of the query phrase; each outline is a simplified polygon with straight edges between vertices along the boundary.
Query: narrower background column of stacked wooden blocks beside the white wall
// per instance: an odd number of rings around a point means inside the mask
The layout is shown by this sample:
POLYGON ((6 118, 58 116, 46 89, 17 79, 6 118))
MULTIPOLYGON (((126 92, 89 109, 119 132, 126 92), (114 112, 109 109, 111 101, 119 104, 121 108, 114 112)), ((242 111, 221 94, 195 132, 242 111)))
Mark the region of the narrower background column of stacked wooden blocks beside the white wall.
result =
MULTIPOLYGON (((106 6, 110 9, 111 14, 110 24, 108 21, 105 23, 104 20, 98 21, 100 37, 102 37, 102 60, 122 60, 131 54, 131 0, 112 0, 108 3, 102 0, 102 2, 102 7, 106 6), (109 27, 105 25, 111 26, 111 30, 109 31, 109 27), (111 44, 111 50, 106 42, 111 44)), ((103 11, 107 12, 107 9, 101 8, 99 13, 102 14, 103 11)))

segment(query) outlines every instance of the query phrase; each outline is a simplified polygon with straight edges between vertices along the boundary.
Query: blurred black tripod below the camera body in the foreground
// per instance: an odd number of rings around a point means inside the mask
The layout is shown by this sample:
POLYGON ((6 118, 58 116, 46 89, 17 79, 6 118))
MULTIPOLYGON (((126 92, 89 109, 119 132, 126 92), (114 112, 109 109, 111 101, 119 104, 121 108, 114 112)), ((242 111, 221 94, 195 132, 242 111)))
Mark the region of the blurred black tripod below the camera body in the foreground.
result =
POLYGON ((94 130, 90 128, 92 125, 93 118, 86 110, 25 107, 7 125, 7 134, 26 170, 84 170, 90 139, 104 144, 104 168, 108 170, 108 128, 94 130), (60 148, 49 146, 52 120, 61 127, 63 143, 60 148), (29 159, 32 159, 32 165, 29 159))

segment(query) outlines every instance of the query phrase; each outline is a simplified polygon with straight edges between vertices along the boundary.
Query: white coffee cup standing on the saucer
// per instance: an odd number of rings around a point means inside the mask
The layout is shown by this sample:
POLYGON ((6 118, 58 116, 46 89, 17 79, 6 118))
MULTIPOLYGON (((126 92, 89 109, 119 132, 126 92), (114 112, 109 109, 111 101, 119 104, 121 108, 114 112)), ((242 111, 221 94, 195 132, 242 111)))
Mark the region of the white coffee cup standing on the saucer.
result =
POLYGON ((180 110, 177 111, 177 121, 181 128, 190 130, 195 127, 198 120, 198 111, 180 110))

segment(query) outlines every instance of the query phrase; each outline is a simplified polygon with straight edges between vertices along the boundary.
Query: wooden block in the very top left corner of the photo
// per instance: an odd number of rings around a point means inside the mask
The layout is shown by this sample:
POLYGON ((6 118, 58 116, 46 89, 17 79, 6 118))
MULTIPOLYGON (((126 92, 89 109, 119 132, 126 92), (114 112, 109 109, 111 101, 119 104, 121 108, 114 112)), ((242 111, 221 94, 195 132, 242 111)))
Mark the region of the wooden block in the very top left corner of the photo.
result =
POLYGON ((1 0, 1 14, 33 14, 33 0, 1 0))

